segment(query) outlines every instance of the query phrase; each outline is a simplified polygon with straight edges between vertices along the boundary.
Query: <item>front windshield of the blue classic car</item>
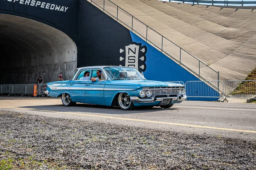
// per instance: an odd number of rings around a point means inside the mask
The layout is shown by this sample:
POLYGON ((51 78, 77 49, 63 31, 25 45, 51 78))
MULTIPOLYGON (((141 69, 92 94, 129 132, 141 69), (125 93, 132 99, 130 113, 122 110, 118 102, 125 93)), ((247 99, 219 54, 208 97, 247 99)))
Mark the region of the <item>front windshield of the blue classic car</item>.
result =
POLYGON ((136 68, 105 67, 104 70, 111 80, 113 79, 145 79, 136 68))

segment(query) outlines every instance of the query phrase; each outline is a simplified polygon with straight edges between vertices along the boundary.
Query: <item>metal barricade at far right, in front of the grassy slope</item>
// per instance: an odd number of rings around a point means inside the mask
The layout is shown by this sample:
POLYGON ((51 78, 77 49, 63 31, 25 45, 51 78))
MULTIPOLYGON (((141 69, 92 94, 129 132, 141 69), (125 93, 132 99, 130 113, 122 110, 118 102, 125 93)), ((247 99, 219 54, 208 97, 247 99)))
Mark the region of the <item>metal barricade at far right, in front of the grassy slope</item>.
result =
POLYGON ((225 98, 256 97, 256 80, 227 80, 225 82, 225 98))

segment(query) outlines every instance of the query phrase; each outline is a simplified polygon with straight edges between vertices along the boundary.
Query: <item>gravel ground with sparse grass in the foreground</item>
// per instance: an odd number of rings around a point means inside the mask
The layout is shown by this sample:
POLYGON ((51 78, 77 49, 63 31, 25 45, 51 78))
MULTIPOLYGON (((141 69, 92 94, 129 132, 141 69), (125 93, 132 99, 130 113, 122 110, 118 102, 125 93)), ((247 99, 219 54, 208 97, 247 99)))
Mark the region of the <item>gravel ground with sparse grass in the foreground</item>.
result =
POLYGON ((256 169, 256 142, 0 110, 0 170, 256 169))

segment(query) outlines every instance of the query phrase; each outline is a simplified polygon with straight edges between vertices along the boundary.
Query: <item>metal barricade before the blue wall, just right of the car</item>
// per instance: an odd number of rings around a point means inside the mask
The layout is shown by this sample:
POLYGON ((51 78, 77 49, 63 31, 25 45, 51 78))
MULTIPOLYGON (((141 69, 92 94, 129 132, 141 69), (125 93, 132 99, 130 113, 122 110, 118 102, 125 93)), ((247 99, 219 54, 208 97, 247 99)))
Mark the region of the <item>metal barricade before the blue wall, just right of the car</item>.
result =
POLYGON ((224 99, 224 82, 221 80, 188 81, 185 83, 187 97, 224 99))

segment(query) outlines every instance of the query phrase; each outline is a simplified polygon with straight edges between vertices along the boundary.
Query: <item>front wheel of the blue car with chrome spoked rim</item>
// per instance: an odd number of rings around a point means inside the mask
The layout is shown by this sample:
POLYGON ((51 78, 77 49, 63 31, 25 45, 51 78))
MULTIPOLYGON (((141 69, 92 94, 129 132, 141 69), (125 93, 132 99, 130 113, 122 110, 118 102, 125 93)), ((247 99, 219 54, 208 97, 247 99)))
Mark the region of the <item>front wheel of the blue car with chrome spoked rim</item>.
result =
POLYGON ((131 102, 130 95, 127 93, 120 93, 117 98, 117 103, 122 110, 133 110, 134 104, 131 102))

